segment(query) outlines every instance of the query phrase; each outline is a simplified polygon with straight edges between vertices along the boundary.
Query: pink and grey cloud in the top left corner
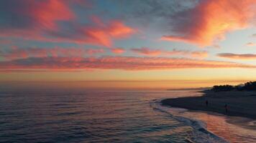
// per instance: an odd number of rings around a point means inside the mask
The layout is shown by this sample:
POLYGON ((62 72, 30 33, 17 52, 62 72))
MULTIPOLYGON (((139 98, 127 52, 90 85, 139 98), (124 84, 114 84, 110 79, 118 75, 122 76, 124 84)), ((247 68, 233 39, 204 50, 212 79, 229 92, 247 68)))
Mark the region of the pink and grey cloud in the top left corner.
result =
MULTIPOLYGON (((39 32, 42 29, 58 29, 57 21, 70 21, 76 18, 66 1, 20 0, 1 2, 2 5, 6 6, 6 17, 9 16, 9 13, 12 14, 12 21, 9 21, 9 19, 5 21, 9 26, 3 27, 2 29, 7 32, 7 34, 5 32, 6 35, 24 33, 34 35, 34 32, 39 32), (12 22, 17 22, 17 24, 13 24, 12 22)), ((5 34, 1 32, 1 35, 5 34)))

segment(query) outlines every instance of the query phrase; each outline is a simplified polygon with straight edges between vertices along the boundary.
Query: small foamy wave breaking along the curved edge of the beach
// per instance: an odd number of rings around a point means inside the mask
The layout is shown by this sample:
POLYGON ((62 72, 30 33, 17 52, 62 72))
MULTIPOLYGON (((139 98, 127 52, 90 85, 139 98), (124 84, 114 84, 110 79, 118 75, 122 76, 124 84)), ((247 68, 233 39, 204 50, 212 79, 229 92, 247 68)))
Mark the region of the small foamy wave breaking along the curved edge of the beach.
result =
POLYGON ((158 112, 163 112, 165 114, 168 114, 172 119, 175 119, 178 122, 183 122, 189 127, 192 127, 194 130, 194 134, 193 134, 194 137, 191 139, 186 139, 187 142, 227 143, 226 140, 222 139, 216 134, 213 134, 212 132, 209 132, 206 129, 206 125, 204 124, 204 122, 201 122, 196 119, 190 119, 187 117, 181 117, 181 116, 175 115, 175 112, 178 112, 178 113, 186 112, 187 111, 186 109, 165 107, 160 103, 161 100, 162 99, 152 100, 152 102, 150 102, 150 107, 152 107, 152 109, 158 112), (170 109, 173 109, 173 112, 170 112, 170 109))

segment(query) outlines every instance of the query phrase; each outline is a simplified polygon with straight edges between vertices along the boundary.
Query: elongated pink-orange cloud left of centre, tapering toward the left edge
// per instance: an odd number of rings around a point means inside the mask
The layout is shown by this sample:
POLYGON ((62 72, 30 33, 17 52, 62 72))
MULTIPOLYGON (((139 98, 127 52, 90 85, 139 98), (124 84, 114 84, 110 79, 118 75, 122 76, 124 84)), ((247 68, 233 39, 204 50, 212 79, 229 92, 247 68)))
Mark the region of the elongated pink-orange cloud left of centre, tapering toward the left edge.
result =
MULTIPOLYGON (((76 44, 93 44, 97 46, 111 47, 114 39, 128 38, 132 34, 136 33, 135 29, 125 25, 122 21, 111 20, 104 24, 95 24, 93 26, 87 25, 74 25, 69 27, 73 29, 70 32, 69 29, 52 29, 50 34, 46 33, 47 36, 42 36, 40 32, 26 33, 19 31, 19 33, 5 34, 5 36, 20 36, 26 35, 23 38, 28 40, 36 41, 47 41, 47 42, 68 42, 76 44)), ((46 31, 49 32, 49 31, 46 31)))

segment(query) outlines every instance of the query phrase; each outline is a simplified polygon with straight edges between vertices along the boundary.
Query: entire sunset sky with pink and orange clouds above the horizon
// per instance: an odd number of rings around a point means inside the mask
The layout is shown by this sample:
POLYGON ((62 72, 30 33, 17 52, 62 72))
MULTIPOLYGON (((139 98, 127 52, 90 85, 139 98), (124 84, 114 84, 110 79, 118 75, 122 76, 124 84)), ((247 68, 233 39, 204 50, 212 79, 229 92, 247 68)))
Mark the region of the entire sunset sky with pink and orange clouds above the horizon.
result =
POLYGON ((0 1, 1 87, 211 87, 255 61, 255 0, 0 1))

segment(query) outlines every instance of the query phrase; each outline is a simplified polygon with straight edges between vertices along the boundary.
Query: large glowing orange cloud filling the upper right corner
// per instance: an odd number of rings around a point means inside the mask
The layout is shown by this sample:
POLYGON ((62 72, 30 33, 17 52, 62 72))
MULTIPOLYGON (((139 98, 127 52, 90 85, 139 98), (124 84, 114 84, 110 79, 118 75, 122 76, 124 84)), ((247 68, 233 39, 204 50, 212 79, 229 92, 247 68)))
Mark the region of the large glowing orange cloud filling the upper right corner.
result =
POLYGON ((224 39, 229 31, 250 26, 255 18, 255 4, 254 0, 200 1, 195 8, 175 17, 175 34, 161 39, 209 46, 224 39))

